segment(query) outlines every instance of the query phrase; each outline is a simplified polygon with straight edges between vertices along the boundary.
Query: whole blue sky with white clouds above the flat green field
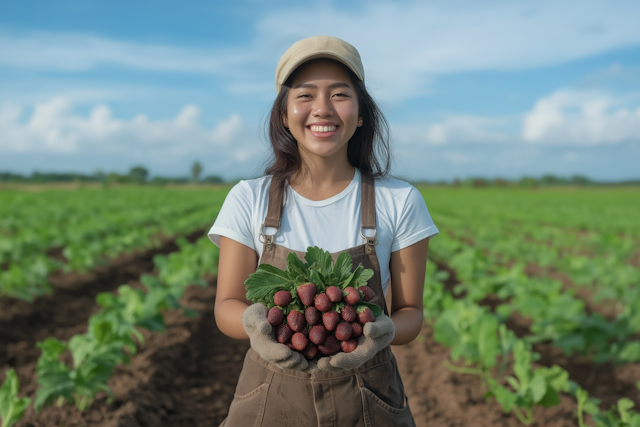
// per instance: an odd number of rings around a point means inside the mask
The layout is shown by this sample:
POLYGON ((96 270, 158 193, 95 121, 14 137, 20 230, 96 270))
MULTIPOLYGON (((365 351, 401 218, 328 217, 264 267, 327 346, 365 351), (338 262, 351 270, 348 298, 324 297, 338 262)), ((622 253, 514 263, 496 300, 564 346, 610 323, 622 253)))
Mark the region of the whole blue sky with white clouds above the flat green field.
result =
POLYGON ((640 177, 638 1, 226 3, 0 2, 0 170, 260 176, 276 64, 327 34, 396 176, 640 177))

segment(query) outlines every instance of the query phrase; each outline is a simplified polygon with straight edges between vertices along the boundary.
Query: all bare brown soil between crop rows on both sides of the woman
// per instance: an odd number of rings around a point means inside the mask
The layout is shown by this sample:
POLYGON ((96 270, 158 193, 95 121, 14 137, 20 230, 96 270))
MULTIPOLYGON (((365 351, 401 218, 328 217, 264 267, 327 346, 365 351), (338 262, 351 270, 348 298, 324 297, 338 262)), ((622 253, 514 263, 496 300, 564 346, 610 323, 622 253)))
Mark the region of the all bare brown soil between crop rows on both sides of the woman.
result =
MULTIPOLYGON (((135 280, 130 283, 137 285, 135 280)), ((452 276, 447 287, 454 284, 455 277, 452 276)), ((85 288, 85 292, 90 291, 85 288)), ((165 333, 144 332, 145 343, 131 364, 119 366, 109 382, 114 392, 113 402, 107 403, 106 395, 99 395, 84 413, 70 405, 49 407, 38 414, 30 408, 17 426, 219 425, 233 398, 249 343, 228 338, 217 329, 213 314, 215 296, 215 278, 210 278, 207 288, 187 288, 182 303, 198 310, 200 315, 187 318, 181 312, 168 312, 165 315, 165 333)), ((54 316, 59 311, 55 306, 45 306, 43 310, 49 312, 52 323, 64 318, 64 313, 54 316)), ((64 312, 71 311, 67 308, 64 312)), ((76 320, 75 325, 69 321, 65 327, 51 325, 49 330, 64 332, 64 336, 55 335, 61 339, 70 336, 72 330, 73 333, 86 331, 86 317, 83 321, 80 318, 76 320)), ((510 327, 526 332, 527 325, 511 321, 510 327)), ((13 358, 3 360, 2 364, 4 368, 16 368, 21 395, 30 397, 34 396, 37 388, 34 370, 38 352, 34 352, 29 344, 32 341, 23 337, 12 344, 13 358), (32 352, 35 357, 18 357, 32 352)), ((428 324, 423 325, 418 339, 392 349, 418 426, 522 425, 514 415, 503 414, 495 401, 485 400, 486 389, 479 377, 454 373, 444 367, 449 352, 433 340, 433 331, 428 324)), ((538 361, 540 365, 559 364, 569 370, 573 380, 592 395, 603 399, 603 407, 623 396, 640 403, 640 393, 634 388, 640 379, 640 365, 598 367, 563 357, 544 345, 537 346, 536 351, 542 354, 538 361)), ((0 371, 0 378, 4 376, 3 371, 0 371)), ((549 409, 537 408, 533 425, 575 426, 575 407, 574 400, 563 395, 560 405, 549 409)))

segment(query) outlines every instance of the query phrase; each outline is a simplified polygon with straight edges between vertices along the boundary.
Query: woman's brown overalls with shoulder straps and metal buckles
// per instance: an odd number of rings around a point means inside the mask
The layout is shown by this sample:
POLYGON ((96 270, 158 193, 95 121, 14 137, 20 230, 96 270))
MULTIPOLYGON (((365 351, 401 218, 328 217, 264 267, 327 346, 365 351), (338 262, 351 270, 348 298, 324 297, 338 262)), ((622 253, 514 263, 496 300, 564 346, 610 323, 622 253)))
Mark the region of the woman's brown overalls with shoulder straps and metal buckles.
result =
MULTIPOLYGON (((376 229, 374 182, 362 176, 362 228, 376 229)), ((263 226, 280 227, 283 189, 270 187, 269 209, 263 226)), ((304 260, 305 252, 292 251, 274 242, 275 235, 264 235, 260 264, 285 270, 286 258, 294 252, 304 260)), ((377 231, 376 231, 377 234, 377 231)), ((362 236, 362 229, 360 230, 362 236)), ((341 252, 374 271, 369 281, 376 302, 388 315, 382 293, 380 264, 376 255, 377 239, 364 237, 366 243, 341 252)), ((262 239, 261 239, 262 241, 262 239)), ((340 252, 331 254, 335 262, 340 252)), ((220 427, 373 427, 415 426, 396 359, 387 346, 356 369, 340 373, 307 372, 283 369, 262 359, 249 349, 244 359, 229 415, 220 427)))

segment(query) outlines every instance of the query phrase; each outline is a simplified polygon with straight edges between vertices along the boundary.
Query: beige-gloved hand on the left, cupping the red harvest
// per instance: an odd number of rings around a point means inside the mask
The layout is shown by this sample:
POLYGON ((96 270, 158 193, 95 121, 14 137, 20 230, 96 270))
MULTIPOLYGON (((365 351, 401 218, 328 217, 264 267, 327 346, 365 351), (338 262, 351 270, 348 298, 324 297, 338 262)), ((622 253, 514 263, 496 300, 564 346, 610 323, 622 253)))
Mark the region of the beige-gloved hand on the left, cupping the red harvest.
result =
POLYGON ((281 368, 304 371, 309 367, 307 359, 293 352, 275 339, 273 326, 267 321, 269 310, 264 304, 250 305, 242 315, 242 326, 249 335, 251 348, 265 360, 281 368))

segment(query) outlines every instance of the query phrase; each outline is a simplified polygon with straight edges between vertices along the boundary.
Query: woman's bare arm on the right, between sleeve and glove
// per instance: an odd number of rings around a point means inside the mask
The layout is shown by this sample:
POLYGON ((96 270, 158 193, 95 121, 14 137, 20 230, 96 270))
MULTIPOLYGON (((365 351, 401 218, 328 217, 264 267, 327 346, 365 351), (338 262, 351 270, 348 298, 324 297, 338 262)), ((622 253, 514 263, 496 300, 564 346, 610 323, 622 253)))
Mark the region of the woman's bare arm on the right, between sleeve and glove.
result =
POLYGON ((422 329, 422 294, 428 251, 429 238, 391 253, 390 313, 396 327, 391 345, 410 343, 422 329))

